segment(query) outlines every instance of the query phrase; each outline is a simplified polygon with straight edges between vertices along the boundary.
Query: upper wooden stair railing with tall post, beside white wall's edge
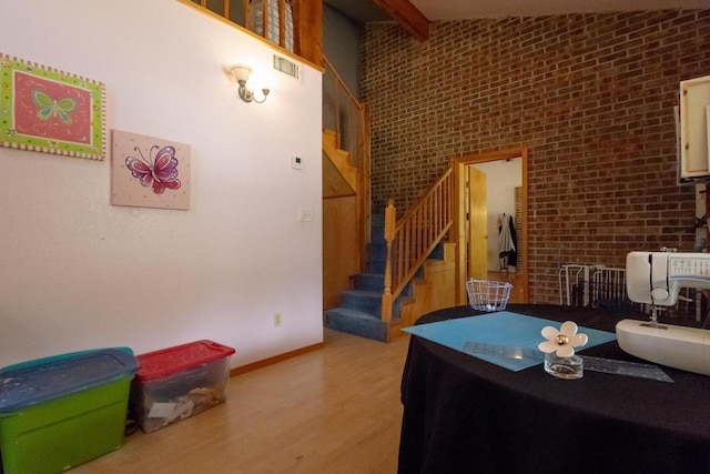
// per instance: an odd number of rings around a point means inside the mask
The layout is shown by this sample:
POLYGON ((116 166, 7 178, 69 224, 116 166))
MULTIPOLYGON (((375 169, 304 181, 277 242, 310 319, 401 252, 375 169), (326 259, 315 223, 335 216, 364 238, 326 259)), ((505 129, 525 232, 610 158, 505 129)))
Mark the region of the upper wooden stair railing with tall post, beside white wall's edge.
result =
MULTIPOLYGON (((361 242, 369 243, 372 229, 371 211, 371 161, 369 161, 369 107, 361 103, 347 88, 335 68, 323 57, 323 129, 335 132, 337 148, 348 152, 352 167, 359 169, 358 216, 361 242)), ((362 252, 361 269, 367 268, 367 252, 362 252)))

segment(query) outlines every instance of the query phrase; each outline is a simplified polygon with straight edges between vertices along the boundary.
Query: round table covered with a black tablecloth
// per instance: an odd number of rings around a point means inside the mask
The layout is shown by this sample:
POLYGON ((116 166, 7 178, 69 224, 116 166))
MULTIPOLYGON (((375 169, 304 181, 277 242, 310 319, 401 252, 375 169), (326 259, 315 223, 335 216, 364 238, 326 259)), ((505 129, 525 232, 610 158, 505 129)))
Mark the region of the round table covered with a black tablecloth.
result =
MULTIPOLYGON (((615 331, 604 310, 510 304, 507 311, 615 331)), ((436 311, 417 324, 481 314, 436 311)), ((645 362, 616 341, 581 355, 645 362)), ((674 383, 541 365, 511 372, 412 336, 402 379, 399 474, 710 473, 710 377, 663 367, 674 383)))

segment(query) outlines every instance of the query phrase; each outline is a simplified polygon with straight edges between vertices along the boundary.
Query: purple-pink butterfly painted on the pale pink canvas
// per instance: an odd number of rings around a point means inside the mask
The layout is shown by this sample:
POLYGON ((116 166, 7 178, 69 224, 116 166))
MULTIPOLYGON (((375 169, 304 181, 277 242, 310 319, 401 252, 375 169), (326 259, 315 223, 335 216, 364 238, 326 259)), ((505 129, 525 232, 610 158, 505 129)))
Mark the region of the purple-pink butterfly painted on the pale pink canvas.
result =
POLYGON ((141 185, 152 186, 155 194, 162 194, 165 189, 180 189, 180 180, 178 179, 179 161, 175 158, 175 148, 168 145, 160 148, 153 145, 149 150, 149 158, 135 147, 133 150, 140 158, 129 157, 125 159, 125 165, 133 178, 140 180, 141 185), (158 150, 155 154, 153 154, 158 150))

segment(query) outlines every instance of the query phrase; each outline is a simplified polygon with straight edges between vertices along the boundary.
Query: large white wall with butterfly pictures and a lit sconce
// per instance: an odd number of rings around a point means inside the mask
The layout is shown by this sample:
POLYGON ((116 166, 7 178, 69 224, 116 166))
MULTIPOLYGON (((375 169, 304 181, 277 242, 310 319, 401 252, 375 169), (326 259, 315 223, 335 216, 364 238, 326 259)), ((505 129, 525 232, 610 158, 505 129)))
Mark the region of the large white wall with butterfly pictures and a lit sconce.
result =
POLYGON ((112 206, 110 158, 0 148, 0 366, 200 339, 239 366, 322 342, 320 71, 244 103, 224 68, 273 51, 176 0, 3 1, 0 51, 103 82, 109 130, 192 148, 190 211, 112 206))

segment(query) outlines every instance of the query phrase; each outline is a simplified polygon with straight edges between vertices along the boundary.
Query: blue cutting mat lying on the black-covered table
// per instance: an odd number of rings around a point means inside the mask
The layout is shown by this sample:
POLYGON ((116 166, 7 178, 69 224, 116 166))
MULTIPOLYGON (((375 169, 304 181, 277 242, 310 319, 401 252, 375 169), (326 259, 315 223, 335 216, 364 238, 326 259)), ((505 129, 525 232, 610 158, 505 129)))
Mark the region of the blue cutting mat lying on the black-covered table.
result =
MULTIPOLYGON (((574 321, 574 317, 570 317, 574 321)), ((410 334, 490 362, 513 372, 542 363, 537 345, 544 341, 545 326, 559 329, 559 321, 501 311, 479 316, 458 317, 404 327, 410 334)), ((589 342, 578 351, 616 341, 615 333, 579 326, 589 342)))

